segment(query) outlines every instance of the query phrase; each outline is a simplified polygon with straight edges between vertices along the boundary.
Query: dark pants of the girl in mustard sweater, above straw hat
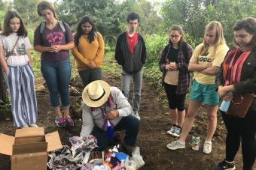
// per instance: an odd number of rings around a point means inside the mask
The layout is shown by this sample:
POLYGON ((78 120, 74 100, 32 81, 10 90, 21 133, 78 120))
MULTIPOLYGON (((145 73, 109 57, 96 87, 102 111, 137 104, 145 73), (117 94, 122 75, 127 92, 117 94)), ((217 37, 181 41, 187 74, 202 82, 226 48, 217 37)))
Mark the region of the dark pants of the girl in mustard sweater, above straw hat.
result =
POLYGON ((84 87, 87 86, 90 82, 93 82, 94 80, 102 79, 102 68, 81 70, 78 71, 78 73, 84 83, 84 87))

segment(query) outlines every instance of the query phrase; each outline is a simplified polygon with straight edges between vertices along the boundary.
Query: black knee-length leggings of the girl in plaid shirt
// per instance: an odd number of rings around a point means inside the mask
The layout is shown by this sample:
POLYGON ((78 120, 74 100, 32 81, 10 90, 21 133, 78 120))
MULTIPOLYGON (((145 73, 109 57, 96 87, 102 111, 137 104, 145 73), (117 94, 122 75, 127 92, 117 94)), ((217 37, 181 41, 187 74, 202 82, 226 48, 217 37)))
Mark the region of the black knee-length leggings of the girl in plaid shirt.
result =
POLYGON ((178 111, 184 111, 186 94, 176 94, 177 85, 169 85, 163 82, 164 89, 166 90, 166 96, 168 98, 169 109, 178 109, 178 111))

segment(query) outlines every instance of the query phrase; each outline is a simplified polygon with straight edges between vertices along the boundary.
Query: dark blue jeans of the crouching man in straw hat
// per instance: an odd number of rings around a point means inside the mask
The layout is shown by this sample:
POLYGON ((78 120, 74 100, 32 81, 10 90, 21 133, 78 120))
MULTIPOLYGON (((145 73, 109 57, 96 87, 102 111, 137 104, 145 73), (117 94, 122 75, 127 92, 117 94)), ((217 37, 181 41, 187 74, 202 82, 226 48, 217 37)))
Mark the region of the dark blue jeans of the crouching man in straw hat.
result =
MULTIPOLYGON (((137 135, 139 133, 139 121, 133 115, 123 117, 120 122, 113 128, 113 131, 126 130, 124 136, 124 143, 128 146, 136 144, 137 135)), ((111 139, 108 139, 108 131, 104 131, 99 127, 94 126, 92 133, 97 139, 96 151, 103 151, 109 145, 111 139)))

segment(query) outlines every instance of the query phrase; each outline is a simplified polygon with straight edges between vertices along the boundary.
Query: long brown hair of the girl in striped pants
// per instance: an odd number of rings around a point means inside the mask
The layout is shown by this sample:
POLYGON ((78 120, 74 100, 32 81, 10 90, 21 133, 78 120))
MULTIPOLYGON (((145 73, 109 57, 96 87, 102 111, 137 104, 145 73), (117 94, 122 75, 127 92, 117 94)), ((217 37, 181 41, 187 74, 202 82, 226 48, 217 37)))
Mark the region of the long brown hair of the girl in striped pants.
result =
POLYGON ((10 21, 11 19, 14 19, 14 18, 20 19, 20 28, 17 31, 17 35, 26 37, 28 35, 26 26, 23 24, 23 20, 20 18, 20 13, 18 13, 17 10, 14 10, 14 9, 11 9, 7 13, 5 13, 4 31, 2 31, 1 34, 8 36, 13 32, 11 29, 10 21))

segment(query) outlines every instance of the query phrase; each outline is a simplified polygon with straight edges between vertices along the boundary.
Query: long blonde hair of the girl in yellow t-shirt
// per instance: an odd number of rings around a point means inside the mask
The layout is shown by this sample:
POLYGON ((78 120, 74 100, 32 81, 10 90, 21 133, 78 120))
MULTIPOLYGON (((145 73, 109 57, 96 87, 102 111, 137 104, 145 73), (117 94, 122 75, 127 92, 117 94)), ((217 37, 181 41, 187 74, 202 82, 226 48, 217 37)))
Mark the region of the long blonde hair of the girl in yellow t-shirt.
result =
MULTIPOLYGON (((212 31, 216 30, 216 37, 215 37, 215 45, 214 45, 214 52, 216 52, 216 49, 219 45, 226 43, 226 40, 224 39, 224 33, 223 28, 221 25, 221 22, 218 21, 212 21, 209 22, 208 25, 206 25, 205 31, 212 31)), ((206 43, 206 34, 203 38, 203 46, 200 49, 200 55, 205 54, 209 49, 209 43, 206 43)))

